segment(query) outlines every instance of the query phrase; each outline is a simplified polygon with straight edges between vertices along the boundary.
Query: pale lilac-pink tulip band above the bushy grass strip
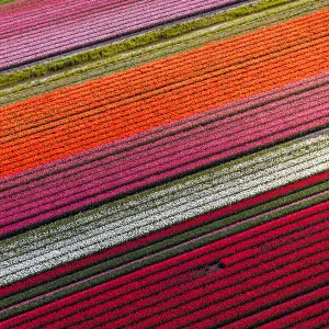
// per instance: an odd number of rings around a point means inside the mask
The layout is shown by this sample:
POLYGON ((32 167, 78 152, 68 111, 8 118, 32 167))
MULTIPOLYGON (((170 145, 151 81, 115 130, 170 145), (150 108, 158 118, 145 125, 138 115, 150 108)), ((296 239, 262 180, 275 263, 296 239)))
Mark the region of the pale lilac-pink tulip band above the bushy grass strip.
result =
POLYGON ((25 31, 23 26, 16 35, 0 39, 0 68, 31 63, 234 2, 205 0, 200 4, 196 0, 140 1, 115 9, 107 8, 88 16, 81 12, 72 13, 61 22, 55 21, 39 29, 35 26, 25 31))

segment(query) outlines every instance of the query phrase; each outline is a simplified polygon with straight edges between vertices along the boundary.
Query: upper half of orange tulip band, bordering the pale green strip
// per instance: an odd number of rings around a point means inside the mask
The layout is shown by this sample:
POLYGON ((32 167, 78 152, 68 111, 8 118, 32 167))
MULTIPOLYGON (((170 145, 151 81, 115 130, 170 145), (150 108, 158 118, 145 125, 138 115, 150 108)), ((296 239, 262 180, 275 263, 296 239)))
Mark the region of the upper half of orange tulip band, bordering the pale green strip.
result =
POLYGON ((326 35, 329 24, 327 11, 320 11, 245 36, 207 45, 174 57, 161 59, 111 77, 65 88, 16 103, 2 110, 2 136, 45 125, 55 120, 94 107, 94 102, 105 105, 163 88, 174 82, 236 65, 251 58, 279 52, 326 35), (290 30, 286 35, 285 32, 290 30), (259 41, 262 41, 262 44, 259 41), (93 102, 94 101, 94 102, 93 102), (101 102, 102 101, 102 102, 101 102), (46 106, 47 105, 47 106, 46 106))

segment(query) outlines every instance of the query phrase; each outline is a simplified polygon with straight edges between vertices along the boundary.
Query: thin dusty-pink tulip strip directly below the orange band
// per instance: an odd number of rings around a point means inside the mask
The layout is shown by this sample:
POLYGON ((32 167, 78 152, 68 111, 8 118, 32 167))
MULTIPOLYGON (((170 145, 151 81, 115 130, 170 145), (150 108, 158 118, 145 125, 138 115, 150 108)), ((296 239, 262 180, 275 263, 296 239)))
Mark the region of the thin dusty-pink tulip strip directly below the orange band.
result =
MULTIPOLYGON (((84 167, 87 163, 94 162, 98 159, 105 159, 115 154, 131 151, 136 147, 143 147, 150 140, 162 139, 169 136, 177 135, 179 132, 185 132, 191 128, 197 127, 202 124, 209 124, 224 117, 225 115, 222 115, 222 113, 243 113, 248 110, 260 106, 260 104, 266 105, 276 100, 281 101, 284 98, 291 98, 294 94, 302 94, 316 87, 325 86, 327 84, 327 82, 328 73, 324 72, 316 77, 303 79, 300 81, 273 89, 268 92, 262 92, 238 102, 229 103, 228 105, 222 106, 219 113, 218 109, 209 110, 198 115, 190 116, 185 120, 172 122, 171 124, 167 124, 156 129, 146 131, 138 135, 133 135, 132 137, 120 139, 116 143, 111 143, 102 145, 101 147, 94 149, 86 150, 72 157, 65 158, 64 160, 57 160, 55 162, 46 163, 42 167, 32 168, 31 170, 26 170, 24 172, 19 172, 11 177, 4 177, 1 178, 1 191, 13 189, 15 186, 20 189, 20 185, 26 185, 32 181, 38 181, 43 177, 53 175, 56 172, 60 173, 66 169, 76 168, 79 166, 84 167), (230 109, 232 107, 235 109, 234 112, 230 111, 230 109)), ((14 189, 13 191, 19 192, 21 190, 14 189)))

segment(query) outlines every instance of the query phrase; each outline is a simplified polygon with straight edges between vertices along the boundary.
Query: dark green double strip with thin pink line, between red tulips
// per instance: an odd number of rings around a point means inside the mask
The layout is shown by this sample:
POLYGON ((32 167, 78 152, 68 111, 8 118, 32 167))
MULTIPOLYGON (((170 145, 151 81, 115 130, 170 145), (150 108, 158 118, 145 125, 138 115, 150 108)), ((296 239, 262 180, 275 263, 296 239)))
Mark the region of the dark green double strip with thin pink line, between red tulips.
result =
POLYGON ((206 246, 206 245, 217 241, 219 239, 236 235, 238 232, 241 232, 241 231, 250 229, 252 227, 274 220, 276 218, 288 215, 291 213, 294 213, 294 212, 310 207, 313 205, 319 204, 321 202, 328 201, 329 193, 322 193, 328 190, 329 190, 329 182, 327 181, 327 182, 307 188, 305 190, 285 195, 283 197, 268 202, 265 204, 261 204, 253 208, 242 211, 236 215, 228 216, 226 218, 222 217, 213 223, 208 223, 201 227, 196 227, 192 230, 179 234, 179 235, 170 237, 166 240, 152 243, 150 246, 146 246, 146 247, 135 250, 135 251, 131 251, 131 252, 120 256, 115 259, 109 259, 102 263, 95 264, 86 270, 81 270, 79 272, 72 273, 65 277, 60 277, 53 282, 48 282, 41 286, 31 288, 26 292, 3 298, 0 302, 0 308, 5 308, 9 306, 15 305, 18 303, 39 296, 47 292, 54 291, 56 288, 60 288, 63 286, 69 285, 71 283, 78 282, 80 280, 88 279, 91 275, 95 275, 95 274, 102 273, 104 271, 114 269, 114 271, 110 274, 103 274, 101 276, 93 277, 93 279, 89 280, 88 282, 79 283, 72 287, 65 287, 60 292, 57 292, 50 296, 45 296, 45 297, 38 298, 37 300, 33 300, 31 303, 5 310, 0 315, 0 319, 7 319, 9 317, 22 314, 24 311, 34 309, 36 307, 39 307, 42 305, 45 305, 45 304, 56 300, 58 298, 63 298, 65 296, 83 291, 88 287, 99 285, 109 280, 113 280, 115 277, 132 273, 141 268, 151 265, 157 262, 164 261, 169 258, 182 254, 184 252, 194 250, 196 248, 201 248, 203 246, 206 246), (268 213, 270 211, 273 211, 273 212, 268 213), (259 216, 261 214, 264 214, 264 215, 259 216), (257 217, 253 220, 246 220, 246 219, 252 218, 254 216, 259 216, 259 217, 257 217), (215 232, 213 235, 205 236, 205 235, 211 234, 214 230, 218 230, 218 229, 225 228, 226 226, 237 224, 237 223, 240 223, 240 225, 229 227, 226 230, 223 230, 220 232, 215 232), (197 238, 197 240, 193 241, 193 239, 196 239, 196 238, 197 238), (184 243, 186 241, 191 241, 191 242, 183 245, 183 246, 179 246, 180 243, 184 243), (172 248, 175 246, 178 246, 178 247, 174 249, 168 250, 168 248, 172 248), (146 256, 148 258, 143 259, 146 256), (140 261, 133 263, 133 264, 128 263, 128 262, 134 262, 136 260, 140 260, 140 261), (127 264, 127 266, 115 270, 115 268, 124 265, 124 264, 127 264))

